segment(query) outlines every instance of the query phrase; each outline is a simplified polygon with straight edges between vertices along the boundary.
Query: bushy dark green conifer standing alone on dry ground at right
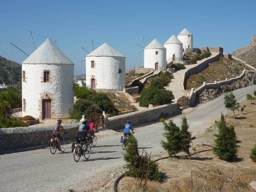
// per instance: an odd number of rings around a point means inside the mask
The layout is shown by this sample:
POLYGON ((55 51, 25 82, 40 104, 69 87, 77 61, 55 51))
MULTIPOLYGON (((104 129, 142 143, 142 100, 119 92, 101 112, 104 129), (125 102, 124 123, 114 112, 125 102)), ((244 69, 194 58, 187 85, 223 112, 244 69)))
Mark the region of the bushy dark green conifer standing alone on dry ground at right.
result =
POLYGON ((238 146, 236 132, 232 125, 227 126, 223 114, 221 120, 217 122, 219 133, 215 135, 214 154, 221 160, 233 161, 237 158, 238 146))

